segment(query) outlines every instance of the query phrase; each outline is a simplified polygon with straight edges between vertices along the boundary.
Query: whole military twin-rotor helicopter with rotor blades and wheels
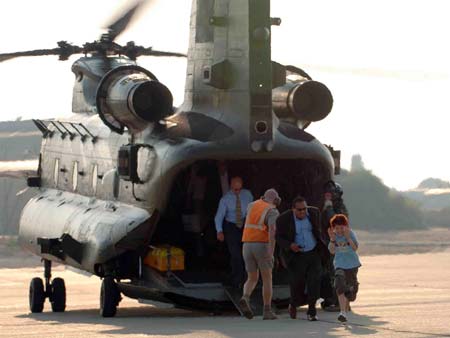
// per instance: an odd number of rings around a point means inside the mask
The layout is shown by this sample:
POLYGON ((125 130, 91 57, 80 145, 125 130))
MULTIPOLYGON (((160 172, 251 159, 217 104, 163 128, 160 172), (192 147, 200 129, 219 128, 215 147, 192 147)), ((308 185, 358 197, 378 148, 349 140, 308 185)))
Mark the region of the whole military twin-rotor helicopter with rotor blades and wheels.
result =
MULTIPOLYGON (((330 113, 332 95, 302 69, 272 61, 271 29, 281 20, 270 16, 270 0, 193 0, 187 55, 114 42, 142 3, 93 43, 0 55, 84 54, 72 65, 72 114, 33 120, 42 146, 27 183, 37 194, 19 229, 20 244, 44 263, 44 280, 30 283, 31 312, 42 312, 46 298, 53 311, 65 310, 65 283, 52 278, 52 262, 102 278, 104 317, 116 314, 121 295, 229 308, 228 253, 212 221, 222 196, 218 168, 243 177, 254 196, 277 189, 281 209, 298 194, 320 205, 323 184, 338 172, 340 152, 305 131, 330 113), (146 55, 187 57, 179 107, 137 65, 146 55), (200 234, 185 217, 192 216, 186 200, 195 168, 207 180, 208 225, 200 234), (162 268, 149 263, 166 249, 162 268), (175 266, 173 258, 184 262, 175 266)), ((286 270, 278 265, 273 301, 283 307, 288 300, 286 270)))

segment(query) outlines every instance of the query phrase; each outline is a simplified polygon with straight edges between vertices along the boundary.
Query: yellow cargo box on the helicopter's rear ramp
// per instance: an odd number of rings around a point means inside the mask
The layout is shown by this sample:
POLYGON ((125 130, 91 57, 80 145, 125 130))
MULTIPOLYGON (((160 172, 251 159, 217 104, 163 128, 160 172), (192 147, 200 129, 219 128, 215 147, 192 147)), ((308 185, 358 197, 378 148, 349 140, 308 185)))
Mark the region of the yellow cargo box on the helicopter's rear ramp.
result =
POLYGON ((170 245, 160 245, 151 249, 144 264, 159 271, 184 270, 184 251, 170 245))

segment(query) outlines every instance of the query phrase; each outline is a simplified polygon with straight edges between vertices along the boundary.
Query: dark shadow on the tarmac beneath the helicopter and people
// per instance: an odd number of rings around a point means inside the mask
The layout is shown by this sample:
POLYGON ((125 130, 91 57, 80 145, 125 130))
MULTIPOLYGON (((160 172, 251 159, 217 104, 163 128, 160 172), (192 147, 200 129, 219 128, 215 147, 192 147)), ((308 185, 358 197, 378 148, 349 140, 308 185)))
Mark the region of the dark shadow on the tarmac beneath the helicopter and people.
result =
MULTIPOLYGON (((275 321, 263 321, 261 317, 247 320, 234 312, 220 316, 205 312, 180 309, 160 309, 155 307, 119 308, 116 317, 102 318, 97 309, 73 310, 64 313, 43 312, 40 314, 19 315, 18 318, 34 319, 51 325, 93 324, 106 325, 99 333, 108 335, 188 335, 213 331, 231 337, 336 337, 345 335, 372 335, 379 331, 376 326, 386 322, 375 317, 352 314, 350 323, 343 327, 336 320, 336 313, 318 311, 320 320, 308 322, 306 309, 300 309, 296 320, 289 318, 284 311, 275 321), (356 324, 358 323, 358 324, 356 324), (353 325, 356 324, 356 325, 353 325), (343 332, 346 330, 347 333, 343 332)), ((210 336, 210 334, 205 333, 210 336)))

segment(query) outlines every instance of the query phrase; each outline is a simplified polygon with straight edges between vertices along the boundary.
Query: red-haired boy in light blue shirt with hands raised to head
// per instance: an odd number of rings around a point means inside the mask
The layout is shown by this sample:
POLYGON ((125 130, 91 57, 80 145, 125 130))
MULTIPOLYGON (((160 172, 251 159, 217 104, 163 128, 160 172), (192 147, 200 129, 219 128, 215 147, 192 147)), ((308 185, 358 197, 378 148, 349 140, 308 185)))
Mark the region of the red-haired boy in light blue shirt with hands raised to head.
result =
POLYGON ((341 310, 338 320, 344 323, 347 321, 347 311, 350 310, 349 303, 356 299, 358 292, 357 274, 361 266, 356 253, 358 240, 344 214, 336 214, 331 218, 328 235, 330 236, 328 250, 334 255, 334 287, 341 310))

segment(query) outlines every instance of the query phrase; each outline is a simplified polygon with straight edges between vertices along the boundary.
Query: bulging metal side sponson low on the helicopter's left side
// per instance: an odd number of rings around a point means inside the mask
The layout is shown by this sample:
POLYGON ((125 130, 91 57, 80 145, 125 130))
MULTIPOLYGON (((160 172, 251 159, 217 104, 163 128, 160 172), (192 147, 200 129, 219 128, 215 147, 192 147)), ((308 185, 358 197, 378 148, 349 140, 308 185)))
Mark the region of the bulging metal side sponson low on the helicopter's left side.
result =
POLYGON ((82 260, 78 263, 67 256, 63 258, 64 263, 94 273, 96 264, 123 253, 116 243, 149 218, 146 210, 123 203, 46 189, 23 209, 19 240, 31 252, 61 261, 55 256, 42 255, 37 239, 70 235, 82 246, 82 260))

